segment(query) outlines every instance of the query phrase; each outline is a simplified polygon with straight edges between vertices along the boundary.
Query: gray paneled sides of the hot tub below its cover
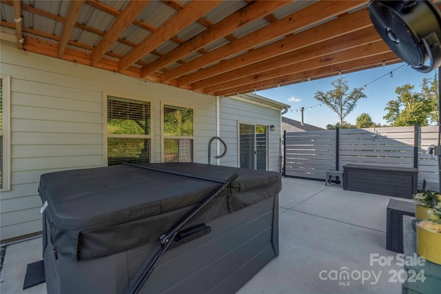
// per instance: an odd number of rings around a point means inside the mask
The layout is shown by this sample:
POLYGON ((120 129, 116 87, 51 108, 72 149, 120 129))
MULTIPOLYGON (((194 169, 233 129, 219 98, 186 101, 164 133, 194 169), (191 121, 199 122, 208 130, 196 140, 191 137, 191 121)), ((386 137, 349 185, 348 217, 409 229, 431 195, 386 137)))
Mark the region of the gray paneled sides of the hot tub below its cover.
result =
MULTIPOLYGON (((211 233, 167 251, 141 293, 234 293, 278 255, 278 194, 205 223, 211 233)), ((44 251, 48 293, 126 293, 158 242, 72 262, 44 251)))

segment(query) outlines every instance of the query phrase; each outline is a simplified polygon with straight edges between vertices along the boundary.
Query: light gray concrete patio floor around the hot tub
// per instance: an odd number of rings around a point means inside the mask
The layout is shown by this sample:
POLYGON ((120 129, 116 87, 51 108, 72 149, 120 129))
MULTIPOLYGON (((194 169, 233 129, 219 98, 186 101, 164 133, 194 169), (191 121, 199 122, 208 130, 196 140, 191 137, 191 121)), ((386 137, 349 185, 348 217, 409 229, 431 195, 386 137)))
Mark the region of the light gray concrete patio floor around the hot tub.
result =
MULTIPOLYGON (((385 249, 390 198, 283 178, 280 255, 238 294, 401 293, 393 272, 402 266, 396 264, 397 253, 385 249), (380 266, 373 256, 393 260, 380 266), (345 272, 349 278, 340 279, 345 272)), ((41 238, 7 246, 0 293, 46 293, 45 284, 22 290, 27 264, 38 260, 41 238)))

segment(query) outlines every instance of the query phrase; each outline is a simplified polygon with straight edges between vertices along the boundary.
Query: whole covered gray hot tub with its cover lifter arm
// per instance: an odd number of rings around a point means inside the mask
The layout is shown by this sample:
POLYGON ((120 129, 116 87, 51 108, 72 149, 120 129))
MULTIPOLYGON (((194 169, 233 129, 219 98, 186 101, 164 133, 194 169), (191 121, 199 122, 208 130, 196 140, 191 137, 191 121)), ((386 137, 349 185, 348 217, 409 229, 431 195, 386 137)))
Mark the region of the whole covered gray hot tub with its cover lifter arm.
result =
POLYGON ((48 293, 127 293, 159 237, 234 173, 182 228, 201 233, 173 242, 140 291, 234 293, 278 255, 280 174, 196 163, 43 174, 48 293))

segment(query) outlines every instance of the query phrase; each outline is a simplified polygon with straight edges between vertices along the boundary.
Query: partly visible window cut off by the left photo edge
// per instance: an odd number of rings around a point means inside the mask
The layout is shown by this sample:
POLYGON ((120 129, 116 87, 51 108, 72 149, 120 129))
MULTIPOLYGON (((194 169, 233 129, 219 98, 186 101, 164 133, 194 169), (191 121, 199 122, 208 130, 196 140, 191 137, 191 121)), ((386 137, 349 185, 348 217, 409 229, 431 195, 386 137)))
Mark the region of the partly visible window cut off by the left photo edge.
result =
POLYGON ((10 189, 10 77, 0 76, 0 190, 10 189))

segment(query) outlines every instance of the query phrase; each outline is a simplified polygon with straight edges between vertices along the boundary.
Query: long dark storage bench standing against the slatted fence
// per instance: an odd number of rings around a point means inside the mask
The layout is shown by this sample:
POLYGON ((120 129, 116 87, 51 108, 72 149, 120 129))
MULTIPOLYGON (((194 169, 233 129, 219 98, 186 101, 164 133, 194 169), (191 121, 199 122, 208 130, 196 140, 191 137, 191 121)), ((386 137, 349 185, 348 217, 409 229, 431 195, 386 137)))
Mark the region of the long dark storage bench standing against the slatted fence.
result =
POLYGON ((400 198, 418 191, 418 169, 375 165, 345 165, 343 189, 400 198))

